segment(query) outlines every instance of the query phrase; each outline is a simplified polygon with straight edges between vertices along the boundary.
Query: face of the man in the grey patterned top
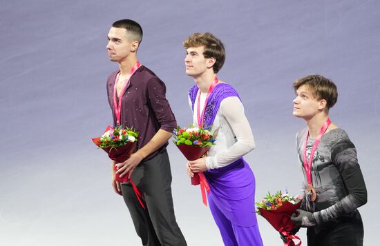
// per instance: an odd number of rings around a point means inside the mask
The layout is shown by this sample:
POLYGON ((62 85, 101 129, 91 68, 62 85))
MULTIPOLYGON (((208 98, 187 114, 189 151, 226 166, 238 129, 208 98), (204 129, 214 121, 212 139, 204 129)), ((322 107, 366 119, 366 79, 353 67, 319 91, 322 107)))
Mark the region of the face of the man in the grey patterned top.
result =
POLYGON ((311 119, 319 110, 323 110, 321 100, 316 99, 307 85, 301 85, 293 100, 293 115, 305 120, 311 119))

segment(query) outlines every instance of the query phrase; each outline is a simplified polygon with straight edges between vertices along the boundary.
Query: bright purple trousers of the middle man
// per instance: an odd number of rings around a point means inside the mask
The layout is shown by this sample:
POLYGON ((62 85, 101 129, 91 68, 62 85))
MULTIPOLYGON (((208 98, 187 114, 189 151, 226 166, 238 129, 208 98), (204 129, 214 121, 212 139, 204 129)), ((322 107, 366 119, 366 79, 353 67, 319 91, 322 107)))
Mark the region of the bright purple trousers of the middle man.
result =
POLYGON ((227 246, 262 246, 255 213, 255 177, 243 158, 205 176, 211 214, 227 246))

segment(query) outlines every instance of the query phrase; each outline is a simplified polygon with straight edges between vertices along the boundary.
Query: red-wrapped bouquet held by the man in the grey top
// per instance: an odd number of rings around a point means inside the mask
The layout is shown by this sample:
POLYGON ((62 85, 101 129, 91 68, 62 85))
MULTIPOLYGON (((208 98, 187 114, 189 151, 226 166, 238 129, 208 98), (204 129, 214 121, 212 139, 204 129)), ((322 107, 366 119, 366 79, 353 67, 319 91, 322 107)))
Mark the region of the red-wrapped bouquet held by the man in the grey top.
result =
POLYGON ((301 245, 301 239, 292 234, 296 225, 290 219, 296 209, 301 206, 301 201, 301 198, 289 196, 287 191, 278 191, 273 195, 268 192, 263 201, 256 203, 258 207, 256 213, 263 216, 276 231, 283 235, 284 245, 301 245), (300 240, 300 242, 296 245, 293 239, 300 240))

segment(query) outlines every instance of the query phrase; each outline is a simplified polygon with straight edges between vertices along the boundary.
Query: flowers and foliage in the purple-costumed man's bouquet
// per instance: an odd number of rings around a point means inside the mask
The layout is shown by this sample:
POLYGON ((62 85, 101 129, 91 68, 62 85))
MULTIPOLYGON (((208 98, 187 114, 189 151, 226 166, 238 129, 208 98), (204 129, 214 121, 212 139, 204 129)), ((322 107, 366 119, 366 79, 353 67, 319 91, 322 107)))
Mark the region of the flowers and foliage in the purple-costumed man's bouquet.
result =
POLYGON ((173 138, 175 145, 185 144, 199 147, 215 145, 215 138, 208 128, 195 127, 194 125, 189 125, 189 128, 178 126, 173 130, 173 138))

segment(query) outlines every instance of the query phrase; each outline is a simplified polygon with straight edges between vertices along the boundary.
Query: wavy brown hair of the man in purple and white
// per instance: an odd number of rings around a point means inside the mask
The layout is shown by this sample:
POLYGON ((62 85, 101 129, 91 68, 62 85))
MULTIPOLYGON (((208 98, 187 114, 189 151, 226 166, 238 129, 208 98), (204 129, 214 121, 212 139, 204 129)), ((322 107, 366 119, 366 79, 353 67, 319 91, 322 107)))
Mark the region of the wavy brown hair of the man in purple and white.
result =
POLYGON ((220 39, 217 39, 213 36, 212 33, 193 33, 183 42, 183 47, 188 49, 191 47, 199 47, 205 46, 205 51, 203 52, 203 56, 205 58, 215 58, 215 64, 213 64, 213 72, 217 73, 222 68, 223 64, 225 64, 226 59, 226 51, 225 45, 223 45, 220 39))

